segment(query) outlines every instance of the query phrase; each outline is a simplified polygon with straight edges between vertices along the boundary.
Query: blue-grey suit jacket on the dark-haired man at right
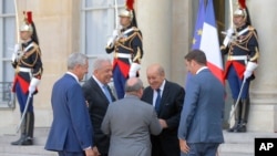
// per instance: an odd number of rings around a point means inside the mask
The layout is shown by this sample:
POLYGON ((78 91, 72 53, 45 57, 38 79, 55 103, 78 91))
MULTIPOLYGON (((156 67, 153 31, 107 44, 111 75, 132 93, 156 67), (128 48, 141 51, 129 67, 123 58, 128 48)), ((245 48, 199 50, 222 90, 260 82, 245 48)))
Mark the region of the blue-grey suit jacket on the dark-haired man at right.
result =
POLYGON ((223 113, 224 86, 205 69, 187 84, 178 137, 187 143, 223 143, 223 113))

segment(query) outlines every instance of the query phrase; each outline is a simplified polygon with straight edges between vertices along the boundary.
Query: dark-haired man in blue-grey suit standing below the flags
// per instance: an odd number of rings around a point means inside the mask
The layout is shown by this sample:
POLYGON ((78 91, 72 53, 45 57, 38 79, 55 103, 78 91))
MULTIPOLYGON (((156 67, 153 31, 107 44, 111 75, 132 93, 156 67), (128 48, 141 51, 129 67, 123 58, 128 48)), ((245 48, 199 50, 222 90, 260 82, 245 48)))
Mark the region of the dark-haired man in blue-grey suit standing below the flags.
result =
POLYGON ((186 67, 194 76, 187 83, 178 127, 182 156, 215 156, 224 142, 224 86, 206 62, 201 50, 193 50, 185 56, 186 67))

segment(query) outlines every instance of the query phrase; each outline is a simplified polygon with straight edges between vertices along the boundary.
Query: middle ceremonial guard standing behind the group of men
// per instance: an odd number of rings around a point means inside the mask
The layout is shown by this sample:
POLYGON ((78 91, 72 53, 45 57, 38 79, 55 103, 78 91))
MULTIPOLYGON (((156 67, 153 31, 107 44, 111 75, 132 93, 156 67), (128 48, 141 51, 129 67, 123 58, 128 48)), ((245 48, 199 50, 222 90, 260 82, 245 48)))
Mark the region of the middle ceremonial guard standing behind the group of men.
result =
POLYGON ((143 56, 142 32, 136 27, 133 2, 126 1, 126 9, 119 14, 122 29, 113 31, 105 48, 107 53, 114 52, 113 82, 117 98, 124 97, 125 81, 138 76, 143 56))

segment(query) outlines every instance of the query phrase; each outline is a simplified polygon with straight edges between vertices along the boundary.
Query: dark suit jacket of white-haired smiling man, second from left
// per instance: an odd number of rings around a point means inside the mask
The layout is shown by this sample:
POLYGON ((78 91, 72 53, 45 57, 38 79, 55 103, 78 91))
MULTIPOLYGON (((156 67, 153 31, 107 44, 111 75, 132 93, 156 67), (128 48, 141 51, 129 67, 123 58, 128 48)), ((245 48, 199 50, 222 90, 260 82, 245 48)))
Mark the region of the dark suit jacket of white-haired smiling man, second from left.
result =
MULTIPOLYGON (((101 154, 107 154, 110 137, 102 133, 101 123, 106 113, 109 100, 92 76, 83 84, 82 89, 84 92, 84 98, 89 102, 89 113, 94 132, 92 138, 93 143, 101 154)), ((115 101, 110 87, 109 92, 112 96, 112 101, 115 101)))

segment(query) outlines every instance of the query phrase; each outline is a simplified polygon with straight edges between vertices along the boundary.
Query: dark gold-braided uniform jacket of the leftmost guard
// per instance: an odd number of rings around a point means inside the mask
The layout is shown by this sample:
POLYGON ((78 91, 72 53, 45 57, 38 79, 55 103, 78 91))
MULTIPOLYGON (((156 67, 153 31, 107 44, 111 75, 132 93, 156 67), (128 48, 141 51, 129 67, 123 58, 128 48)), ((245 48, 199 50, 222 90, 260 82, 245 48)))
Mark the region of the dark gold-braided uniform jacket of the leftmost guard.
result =
POLYGON ((16 84, 19 83, 23 93, 27 94, 31 79, 37 77, 40 80, 42 75, 43 69, 39 45, 32 40, 22 43, 21 56, 18 56, 18 60, 12 62, 12 66, 16 69, 12 92, 16 92, 16 84))

